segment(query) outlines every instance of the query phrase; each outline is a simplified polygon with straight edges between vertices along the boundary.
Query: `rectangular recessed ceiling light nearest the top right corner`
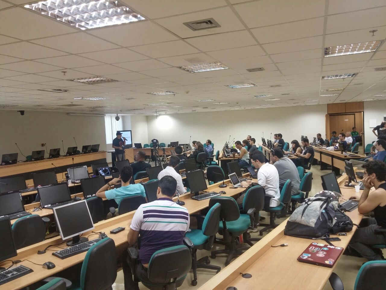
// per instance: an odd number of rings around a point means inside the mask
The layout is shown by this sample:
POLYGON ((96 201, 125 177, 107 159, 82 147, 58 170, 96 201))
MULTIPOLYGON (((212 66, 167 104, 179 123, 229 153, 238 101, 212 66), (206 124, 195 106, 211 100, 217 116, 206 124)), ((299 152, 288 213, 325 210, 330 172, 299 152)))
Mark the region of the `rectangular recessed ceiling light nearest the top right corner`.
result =
POLYGON ((345 44, 326 47, 324 49, 324 57, 339 56, 339 55, 354 55, 356 53, 365 53, 376 51, 378 46, 381 44, 381 40, 345 44))

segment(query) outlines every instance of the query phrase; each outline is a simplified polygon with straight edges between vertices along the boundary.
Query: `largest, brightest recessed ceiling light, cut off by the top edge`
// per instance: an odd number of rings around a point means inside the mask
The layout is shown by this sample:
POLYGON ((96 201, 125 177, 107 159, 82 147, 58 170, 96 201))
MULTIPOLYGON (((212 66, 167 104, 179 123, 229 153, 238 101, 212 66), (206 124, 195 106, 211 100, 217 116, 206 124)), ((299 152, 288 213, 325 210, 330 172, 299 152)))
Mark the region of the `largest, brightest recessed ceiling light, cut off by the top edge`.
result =
POLYGON ((82 30, 145 19, 115 0, 49 0, 24 7, 82 30))

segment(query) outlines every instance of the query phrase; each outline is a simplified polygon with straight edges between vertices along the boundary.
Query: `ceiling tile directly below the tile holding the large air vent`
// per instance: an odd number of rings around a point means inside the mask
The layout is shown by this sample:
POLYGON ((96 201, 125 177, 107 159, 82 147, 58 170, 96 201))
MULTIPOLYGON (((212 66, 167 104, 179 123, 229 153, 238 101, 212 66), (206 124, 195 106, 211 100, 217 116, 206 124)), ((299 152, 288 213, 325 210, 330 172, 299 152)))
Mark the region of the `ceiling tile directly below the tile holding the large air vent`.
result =
POLYGON ((213 51, 256 44, 256 41, 246 30, 198 36, 186 39, 186 41, 202 51, 213 51))

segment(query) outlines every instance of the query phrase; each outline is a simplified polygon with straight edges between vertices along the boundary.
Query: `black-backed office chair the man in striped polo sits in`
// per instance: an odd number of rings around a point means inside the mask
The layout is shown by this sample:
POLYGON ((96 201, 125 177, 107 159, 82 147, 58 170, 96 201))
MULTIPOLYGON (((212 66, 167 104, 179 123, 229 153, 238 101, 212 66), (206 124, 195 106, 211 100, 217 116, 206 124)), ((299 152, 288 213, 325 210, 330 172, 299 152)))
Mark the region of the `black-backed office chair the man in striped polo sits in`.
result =
MULTIPOLYGON (((192 245, 191 242, 190 245, 192 245)), ((137 267, 140 266, 140 262, 138 261, 137 249, 129 248, 127 251, 127 262, 132 270, 134 281, 141 281, 151 290, 175 290, 182 285, 191 268, 191 251, 187 246, 168 247, 152 254, 147 277, 144 280, 139 280, 137 267)))

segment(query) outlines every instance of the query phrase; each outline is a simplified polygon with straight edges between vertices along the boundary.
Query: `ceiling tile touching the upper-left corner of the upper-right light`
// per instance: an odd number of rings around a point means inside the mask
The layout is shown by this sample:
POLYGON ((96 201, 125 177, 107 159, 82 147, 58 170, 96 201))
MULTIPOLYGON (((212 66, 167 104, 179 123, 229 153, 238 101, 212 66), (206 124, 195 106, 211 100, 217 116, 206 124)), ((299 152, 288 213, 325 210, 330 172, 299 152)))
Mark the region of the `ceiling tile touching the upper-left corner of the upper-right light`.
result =
POLYGON ((251 29, 259 43, 278 42, 323 34, 324 17, 251 29))

